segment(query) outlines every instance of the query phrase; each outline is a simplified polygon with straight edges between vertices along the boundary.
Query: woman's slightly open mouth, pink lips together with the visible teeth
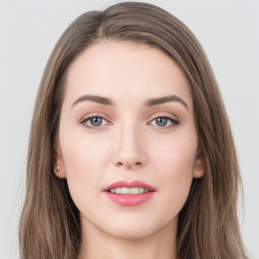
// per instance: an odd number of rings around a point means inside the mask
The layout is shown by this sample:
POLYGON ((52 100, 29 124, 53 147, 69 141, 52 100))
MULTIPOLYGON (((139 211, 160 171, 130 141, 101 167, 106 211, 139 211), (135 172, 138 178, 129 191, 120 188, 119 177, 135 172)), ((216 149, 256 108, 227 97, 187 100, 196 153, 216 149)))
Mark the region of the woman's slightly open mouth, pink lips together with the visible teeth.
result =
POLYGON ((119 181, 107 186, 104 190, 106 197, 121 206, 137 206, 150 200, 155 188, 141 181, 119 181))

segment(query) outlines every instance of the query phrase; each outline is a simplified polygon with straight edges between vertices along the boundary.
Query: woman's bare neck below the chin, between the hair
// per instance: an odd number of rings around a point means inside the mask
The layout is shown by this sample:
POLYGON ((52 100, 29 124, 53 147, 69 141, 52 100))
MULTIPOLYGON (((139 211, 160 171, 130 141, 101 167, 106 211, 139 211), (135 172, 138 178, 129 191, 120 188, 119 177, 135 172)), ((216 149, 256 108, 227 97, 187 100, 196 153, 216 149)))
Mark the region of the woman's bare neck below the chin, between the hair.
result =
POLYGON ((92 224, 82 228, 77 259, 176 259, 177 224, 140 239, 121 239, 108 235, 92 224))

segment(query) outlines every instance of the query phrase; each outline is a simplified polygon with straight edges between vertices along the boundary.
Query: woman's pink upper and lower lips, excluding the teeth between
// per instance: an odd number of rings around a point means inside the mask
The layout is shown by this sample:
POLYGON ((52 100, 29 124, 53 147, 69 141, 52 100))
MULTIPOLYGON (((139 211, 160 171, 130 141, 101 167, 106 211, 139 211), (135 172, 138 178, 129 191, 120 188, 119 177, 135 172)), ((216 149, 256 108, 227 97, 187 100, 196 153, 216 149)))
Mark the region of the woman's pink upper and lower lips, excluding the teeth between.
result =
POLYGON ((126 181, 119 181, 104 188, 103 192, 111 202, 117 205, 137 206, 150 200, 154 196, 156 189, 141 181, 133 181, 130 183, 126 181), (116 194, 116 193, 109 192, 111 189, 119 188, 119 187, 126 187, 126 188, 141 187, 144 189, 148 189, 149 192, 139 193, 139 194, 116 194))

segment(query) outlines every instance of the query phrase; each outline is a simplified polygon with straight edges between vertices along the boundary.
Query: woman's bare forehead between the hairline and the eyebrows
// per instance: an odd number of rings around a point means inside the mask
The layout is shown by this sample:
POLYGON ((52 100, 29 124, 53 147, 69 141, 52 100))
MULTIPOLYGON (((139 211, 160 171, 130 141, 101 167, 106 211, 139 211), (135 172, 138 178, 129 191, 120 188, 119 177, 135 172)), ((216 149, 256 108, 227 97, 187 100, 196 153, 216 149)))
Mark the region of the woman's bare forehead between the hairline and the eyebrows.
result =
POLYGON ((131 42, 102 42, 83 51, 70 65, 66 95, 95 94, 152 98, 177 95, 191 104, 189 85, 162 51, 131 42))

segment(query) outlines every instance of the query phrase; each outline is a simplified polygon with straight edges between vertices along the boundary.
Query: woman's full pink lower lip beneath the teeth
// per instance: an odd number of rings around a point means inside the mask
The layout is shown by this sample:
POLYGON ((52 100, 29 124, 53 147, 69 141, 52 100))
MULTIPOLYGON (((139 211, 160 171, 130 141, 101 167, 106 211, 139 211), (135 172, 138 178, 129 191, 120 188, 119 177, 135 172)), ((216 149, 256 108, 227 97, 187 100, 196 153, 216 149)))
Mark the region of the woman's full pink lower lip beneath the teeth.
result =
POLYGON ((116 194, 111 192, 104 192, 106 197, 115 204, 121 206, 137 206, 154 196, 154 191, 140 193, 140 194, 116 194))

